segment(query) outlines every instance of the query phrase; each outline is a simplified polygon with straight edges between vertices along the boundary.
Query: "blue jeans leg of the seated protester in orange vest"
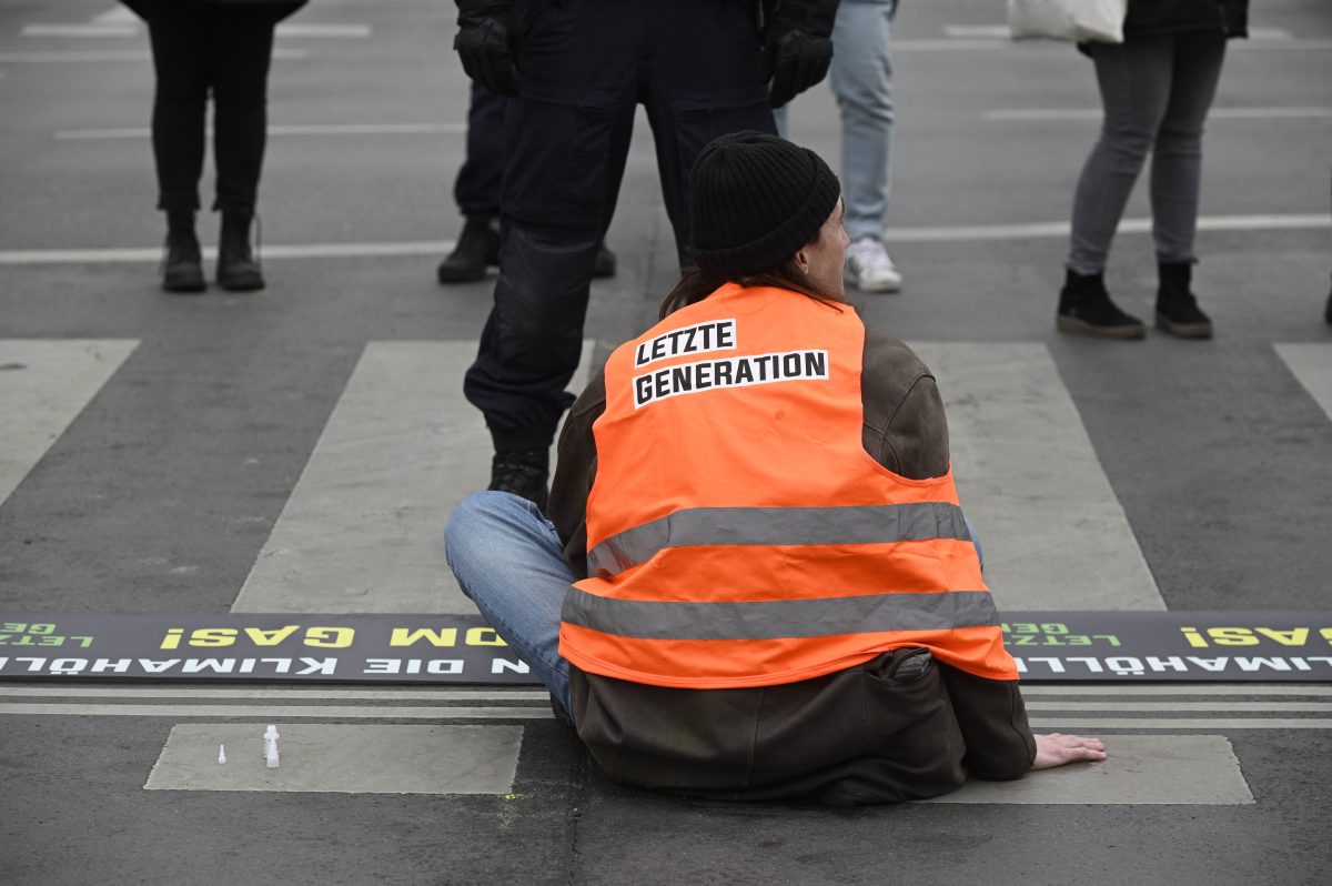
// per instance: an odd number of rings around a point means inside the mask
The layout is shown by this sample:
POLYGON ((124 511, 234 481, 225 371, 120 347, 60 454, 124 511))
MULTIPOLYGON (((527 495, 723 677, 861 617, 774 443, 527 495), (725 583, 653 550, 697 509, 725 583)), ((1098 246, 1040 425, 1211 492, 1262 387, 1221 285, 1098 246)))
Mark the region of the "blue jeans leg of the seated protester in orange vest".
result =
POLYGON ((554 525, 526 498, 478 492, 454 509, 444 552, 462 593, 571 711, 559 609, 577 580, 554 525))

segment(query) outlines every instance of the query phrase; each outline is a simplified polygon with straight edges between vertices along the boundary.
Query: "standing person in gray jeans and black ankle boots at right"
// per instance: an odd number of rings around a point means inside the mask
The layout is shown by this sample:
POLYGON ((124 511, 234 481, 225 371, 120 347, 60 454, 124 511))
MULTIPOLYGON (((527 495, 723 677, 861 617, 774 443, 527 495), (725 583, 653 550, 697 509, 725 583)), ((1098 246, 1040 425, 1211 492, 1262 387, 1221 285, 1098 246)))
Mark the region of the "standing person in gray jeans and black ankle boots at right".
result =
POLYGON ((1074 197, 1060 332, 1142 338, 1143 321, 1106 290, 1110 242, 1147 153, 1152 155, 1152 238, 1160 288, 1156 325, 1209 338, 1212 321, 1189 289, 1203 123, 1216 93, 1228 37, 1248 35, 1248 0, 1128 0, 1122 44, 1079 47, 1096 63, 1106 119, 1074 197))

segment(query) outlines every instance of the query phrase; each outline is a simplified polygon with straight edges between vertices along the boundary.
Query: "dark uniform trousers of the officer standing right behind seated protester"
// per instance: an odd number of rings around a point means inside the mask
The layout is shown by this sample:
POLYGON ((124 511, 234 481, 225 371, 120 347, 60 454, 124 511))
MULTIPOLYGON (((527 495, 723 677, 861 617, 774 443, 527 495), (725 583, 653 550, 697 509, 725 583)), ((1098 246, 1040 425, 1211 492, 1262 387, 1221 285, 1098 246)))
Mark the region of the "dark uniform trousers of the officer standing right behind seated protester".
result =
POLYGON ((775 133, 746 0, 517 4, 519 97, 503 131, 500 280, 464 392, 496 450, 550 446, 573 404, 597 249, 634 111, 653 128, 666 213, 687 264, 689 171, 717 136, 775 133))

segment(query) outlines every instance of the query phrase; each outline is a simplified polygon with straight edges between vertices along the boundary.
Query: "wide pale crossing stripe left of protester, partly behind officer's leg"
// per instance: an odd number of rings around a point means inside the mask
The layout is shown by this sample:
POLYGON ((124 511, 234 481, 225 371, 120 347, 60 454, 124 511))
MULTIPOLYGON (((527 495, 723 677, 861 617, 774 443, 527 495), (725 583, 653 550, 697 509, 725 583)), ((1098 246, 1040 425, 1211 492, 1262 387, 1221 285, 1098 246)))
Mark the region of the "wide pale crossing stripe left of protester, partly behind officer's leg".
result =
POLYGON ((454 506, 490 480, 490 434, 462 396, 476 353, 366 345, 232 612, 476 613, 442 544, 454 506))

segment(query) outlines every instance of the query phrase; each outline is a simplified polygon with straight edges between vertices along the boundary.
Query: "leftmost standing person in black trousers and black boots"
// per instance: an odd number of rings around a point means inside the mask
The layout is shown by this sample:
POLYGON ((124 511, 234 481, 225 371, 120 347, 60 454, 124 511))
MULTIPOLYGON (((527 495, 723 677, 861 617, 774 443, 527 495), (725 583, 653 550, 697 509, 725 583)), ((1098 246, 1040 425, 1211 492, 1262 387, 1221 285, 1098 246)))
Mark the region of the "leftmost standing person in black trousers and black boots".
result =
POLYGON ((213 209, 222 213, 217 284, 264 288, 250 248, 268 131, 268 67, 273 29, 305 0, 124 0, 148 23, 157 88, 153 157, 157 208, 166 213, 163 289, 202 292, 204 260, 194 233, 204 171, 208 96, 213 97, 213 209))

